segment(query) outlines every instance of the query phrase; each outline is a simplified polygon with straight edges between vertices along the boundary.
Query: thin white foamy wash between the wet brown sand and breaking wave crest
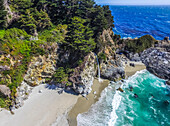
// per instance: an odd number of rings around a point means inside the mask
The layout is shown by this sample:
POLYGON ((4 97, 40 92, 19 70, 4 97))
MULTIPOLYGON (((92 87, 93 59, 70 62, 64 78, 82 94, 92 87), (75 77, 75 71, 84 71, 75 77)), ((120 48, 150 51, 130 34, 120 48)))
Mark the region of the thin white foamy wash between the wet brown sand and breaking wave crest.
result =
POLYGON ((109 121, 111 113, 111 100, 113 95, 113 87, 108 86, 101 93, 99 101, 92 105, 88 112, 77 116, 78 126, 102 126, 109 121), (111 94, 112 93, 112 94, 111 94), (106 97, 107 96, 107 97, 106 97))

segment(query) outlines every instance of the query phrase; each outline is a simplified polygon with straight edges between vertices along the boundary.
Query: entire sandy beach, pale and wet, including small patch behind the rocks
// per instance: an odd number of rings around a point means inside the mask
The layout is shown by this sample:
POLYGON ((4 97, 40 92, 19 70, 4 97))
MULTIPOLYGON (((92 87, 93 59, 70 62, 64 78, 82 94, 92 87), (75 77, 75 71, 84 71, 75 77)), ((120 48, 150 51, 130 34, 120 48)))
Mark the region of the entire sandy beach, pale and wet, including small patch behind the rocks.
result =
MULTIPOLYGON (((146 69, 141 62, 128 61, 125 66, 126 77, 132 76, 137 71, 146 69), (135 67, 129 65, 134 63, 135 67)), ((95 104, 101 92, 109 85, 109 80, 103 82, 94 79, 92 91, 87 98, 68 93, 58 94, 57 89, 48 89, 46 84, 39 85, 32 90, 32 93, 24 105, 14 110, 12 115, 8 110, 0 109, 1 126, 76 126, 77 115, 87 112, 95 104), (39 93, 39 91, 42 93, 39 93)))

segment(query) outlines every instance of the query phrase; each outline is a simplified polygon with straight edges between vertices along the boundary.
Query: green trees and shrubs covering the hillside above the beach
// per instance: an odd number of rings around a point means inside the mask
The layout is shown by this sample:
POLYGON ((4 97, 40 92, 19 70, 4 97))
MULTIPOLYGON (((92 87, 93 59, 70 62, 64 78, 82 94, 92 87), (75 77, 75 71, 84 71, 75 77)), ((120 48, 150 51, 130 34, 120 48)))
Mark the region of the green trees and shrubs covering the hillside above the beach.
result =
MULTIPOLYGON (((114 27, 109 7, 93 0, 5 2, 0 0, 0 85, 9 87, 11 95, 0 95, 0 107, 12 104, 32 57, 48 55, 46 47, 57 43, 63 50, 71 50, 79 65, 90 51, 97 50, 102 31, 114 27)), ((70 85, 71 68, 59 67, 54 80, 70 85)))

